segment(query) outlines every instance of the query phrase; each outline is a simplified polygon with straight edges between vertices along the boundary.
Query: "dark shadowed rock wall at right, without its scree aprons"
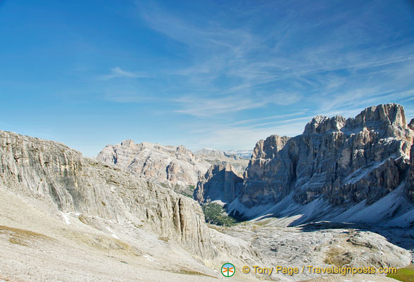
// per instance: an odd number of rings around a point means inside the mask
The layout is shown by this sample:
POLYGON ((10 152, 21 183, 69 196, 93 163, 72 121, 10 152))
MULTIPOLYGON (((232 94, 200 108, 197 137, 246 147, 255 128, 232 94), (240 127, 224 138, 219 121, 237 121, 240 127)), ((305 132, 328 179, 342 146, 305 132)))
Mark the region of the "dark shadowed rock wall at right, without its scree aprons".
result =
POLYGON ((301 204, 320 195, 335 205, 372 204, 403 181, 413 135, 398 104, 372 106, 356 118, 316 116, 302 135, 256 144, 240 199, 253 207, 294 192, 301 204))

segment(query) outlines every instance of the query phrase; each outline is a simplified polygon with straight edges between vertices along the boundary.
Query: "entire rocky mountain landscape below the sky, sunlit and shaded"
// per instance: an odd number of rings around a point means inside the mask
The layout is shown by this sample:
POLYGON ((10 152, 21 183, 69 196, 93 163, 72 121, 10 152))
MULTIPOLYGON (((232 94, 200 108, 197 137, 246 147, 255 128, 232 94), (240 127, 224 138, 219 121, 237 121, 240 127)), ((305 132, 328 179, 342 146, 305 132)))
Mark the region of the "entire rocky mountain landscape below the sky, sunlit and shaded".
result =
MULTIPOLYGON (((0 281, 211 281, 225 262, 407 266, 413 137, 398 104, 316 116, 301 135, 258 141, 249 160, 132 140, 90 159, 0 130, 0 281)), ((389 281, 344 276, 358 277, 389 281)))

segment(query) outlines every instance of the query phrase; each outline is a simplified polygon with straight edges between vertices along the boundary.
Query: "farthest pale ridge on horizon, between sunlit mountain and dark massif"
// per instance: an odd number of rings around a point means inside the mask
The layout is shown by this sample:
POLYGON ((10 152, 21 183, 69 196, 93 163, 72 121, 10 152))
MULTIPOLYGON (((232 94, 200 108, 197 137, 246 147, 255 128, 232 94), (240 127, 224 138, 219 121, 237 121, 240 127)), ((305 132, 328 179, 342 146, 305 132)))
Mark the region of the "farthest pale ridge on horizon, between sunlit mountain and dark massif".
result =
MULTIPOLYGON (((199 151, 194 152, 194 154, 203 159, 208 161, 208 163, 215 165, 215 164, 232 164, 233 169, 238 173, 243 173, 244 169, 246 169, 247 165, 249 164, 249 157, 246 156, 246 152, 242 152, 239 155, 238 151, 233 151, 234 153, 220 151, 218 149, 208 149, 203 148, 199 151)), ((248 153, 247 153, 248 154, 248 153)))

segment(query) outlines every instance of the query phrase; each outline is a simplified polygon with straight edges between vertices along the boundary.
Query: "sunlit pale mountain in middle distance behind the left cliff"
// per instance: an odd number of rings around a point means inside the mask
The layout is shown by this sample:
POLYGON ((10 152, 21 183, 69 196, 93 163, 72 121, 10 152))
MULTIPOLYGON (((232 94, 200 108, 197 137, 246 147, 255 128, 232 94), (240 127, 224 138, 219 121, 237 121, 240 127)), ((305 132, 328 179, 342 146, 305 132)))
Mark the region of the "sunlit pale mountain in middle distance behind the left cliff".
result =
POLYGON ((132 140, 108 145, 96 157, 146 180, 156 180, 176 191, 192 195, 194 186, 210 164, 183 146, 172 147, 132 140))

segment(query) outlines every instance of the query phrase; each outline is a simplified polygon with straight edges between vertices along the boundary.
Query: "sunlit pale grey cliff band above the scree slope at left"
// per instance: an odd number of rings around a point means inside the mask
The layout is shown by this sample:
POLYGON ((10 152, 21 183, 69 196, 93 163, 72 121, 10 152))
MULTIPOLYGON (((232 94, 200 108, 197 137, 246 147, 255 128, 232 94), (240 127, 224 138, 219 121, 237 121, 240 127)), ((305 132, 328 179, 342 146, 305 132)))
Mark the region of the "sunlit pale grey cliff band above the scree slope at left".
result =
POLYGON ((194 200, 84 158, 58 142, 0 131, 0 185, 61 212, 148 228, 196 257, 215 256, 194 200))

